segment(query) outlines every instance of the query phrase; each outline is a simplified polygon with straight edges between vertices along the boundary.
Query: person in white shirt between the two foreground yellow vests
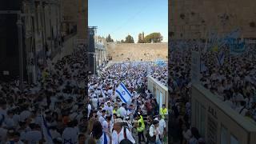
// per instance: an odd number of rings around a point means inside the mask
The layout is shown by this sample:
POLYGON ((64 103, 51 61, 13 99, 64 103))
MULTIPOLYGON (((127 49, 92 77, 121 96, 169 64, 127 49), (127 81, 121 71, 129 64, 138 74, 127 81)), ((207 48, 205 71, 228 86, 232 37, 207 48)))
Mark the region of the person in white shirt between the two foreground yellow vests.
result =
POLYGON ((158 120, 154 120, 153 124, 150 126, 150 137, 154 137, 155 136, 155 141, 154 142, 149 142, 152 144, 161 144, 161 140, 160 140, 160 131, 158 129, 159 127, 159 121, 158 120))

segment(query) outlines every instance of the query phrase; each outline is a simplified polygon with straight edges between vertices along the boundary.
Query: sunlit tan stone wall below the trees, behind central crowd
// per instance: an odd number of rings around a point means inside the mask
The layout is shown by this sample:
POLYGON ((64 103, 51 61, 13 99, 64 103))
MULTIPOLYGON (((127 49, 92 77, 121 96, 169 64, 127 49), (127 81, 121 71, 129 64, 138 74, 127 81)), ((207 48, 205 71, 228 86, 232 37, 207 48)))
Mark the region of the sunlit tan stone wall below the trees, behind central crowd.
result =
POLYGON ((167 43, 107 43, 107 52, 112 61, 125 62, 130 61, 155 61, 158 58, 167 60, 168 46, 167 43))

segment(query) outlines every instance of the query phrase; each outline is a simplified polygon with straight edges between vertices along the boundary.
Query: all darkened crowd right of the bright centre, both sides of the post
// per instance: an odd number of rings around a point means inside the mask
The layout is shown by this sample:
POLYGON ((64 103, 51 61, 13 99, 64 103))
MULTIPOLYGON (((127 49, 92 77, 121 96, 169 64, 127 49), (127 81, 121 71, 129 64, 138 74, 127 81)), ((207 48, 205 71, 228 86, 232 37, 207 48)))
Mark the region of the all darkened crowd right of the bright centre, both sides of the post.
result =
POLYGON ((179 115, 176 118, 172 117, 174 122, 170 123, 174 126, 170 126, 169 131, 177 142, 192 142, 191 135, 197 142, 204 142, 203 138, 198 136, 200 135, 198 130, 190 126, 192 50, 200 52, 202 86, 250 122, 256 121, 255 44, 246 44, 244 52, 234 53, 228 45, 219 47, 218 50, 206 50, 204 43, 172 42, 174 49, 169 51, 171 58, 168 62, 170 75, 168 89, 171 105, 178 105, 178 114, 175 115, 179 115), (223 59, 220 59, 221 57, 223 59), (177 99, 179 99, 178 104, 175 102, 177 99))

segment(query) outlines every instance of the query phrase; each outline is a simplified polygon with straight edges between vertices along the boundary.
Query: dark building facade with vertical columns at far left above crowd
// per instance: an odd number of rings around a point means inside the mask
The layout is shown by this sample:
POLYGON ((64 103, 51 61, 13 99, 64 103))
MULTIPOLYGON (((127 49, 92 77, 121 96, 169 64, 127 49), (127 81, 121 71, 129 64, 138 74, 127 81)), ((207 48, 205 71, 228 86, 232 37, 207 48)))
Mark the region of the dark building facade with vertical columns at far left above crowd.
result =
POLYGON ((8 34, 8 36, 2 35, 1 38, 3 47, 1 54, 4 58, 0 66, 2 79, 21 77, 22 70, 24 80, 36 81, 38 68, 46 63, 47 57, 52 57, 52 54, 60 49, 60 2, 54 0, 1 2, 1 30, 6 30, 2 34, 8 34), (16 25, 18 18, 21 20, 20 30, 16 25), (22 57, 20 48, 22 48, 22 57))

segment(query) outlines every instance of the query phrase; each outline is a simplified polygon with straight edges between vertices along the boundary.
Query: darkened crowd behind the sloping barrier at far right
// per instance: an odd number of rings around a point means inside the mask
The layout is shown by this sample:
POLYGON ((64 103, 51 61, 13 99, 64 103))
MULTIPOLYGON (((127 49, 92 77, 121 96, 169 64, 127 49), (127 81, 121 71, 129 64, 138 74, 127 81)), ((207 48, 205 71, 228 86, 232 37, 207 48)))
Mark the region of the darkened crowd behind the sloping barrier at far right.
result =
POLYGON ((216 54, 210 51, 202 54, 205 69, 202 70, 201 82, 204 87, 218 95, 227 106, 238 114, 256 121, 256 61, 255 46, 246 45, 242 54, 230 54, 228 47, 223 47, 222 65, 214 61, 216 54))

